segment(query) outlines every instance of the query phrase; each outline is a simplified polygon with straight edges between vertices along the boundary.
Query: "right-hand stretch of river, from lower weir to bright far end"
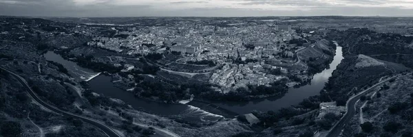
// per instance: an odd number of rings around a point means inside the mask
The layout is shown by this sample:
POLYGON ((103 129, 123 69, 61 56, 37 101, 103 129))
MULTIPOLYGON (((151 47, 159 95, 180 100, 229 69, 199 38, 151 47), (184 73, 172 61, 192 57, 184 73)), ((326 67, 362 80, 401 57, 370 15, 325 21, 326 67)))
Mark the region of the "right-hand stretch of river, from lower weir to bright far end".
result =
POLYGON ((297 105, 299 102, 303 101, 303 99, 307 99, 308 97, 314 95, 319 95, 320 90, 324 88, 324 84, 326 84, 326 82, 328 82, 328 78, 331 77, 332 71, 337 69, 337 66, 343 59, 342 47, 337 46, 336 55, 330 63, 330 68, 321 71, 321 73, 315 74, 313 79, 311 79, 310 84, 299 88, 290 88, 286 95, 281 98, 268 97, 266 99, 257 99, 248 102, 220 102, 213 104, 238 114, 247 114, 253 110, 263 112, 269 110, 277 111, 281 108, 297 105))

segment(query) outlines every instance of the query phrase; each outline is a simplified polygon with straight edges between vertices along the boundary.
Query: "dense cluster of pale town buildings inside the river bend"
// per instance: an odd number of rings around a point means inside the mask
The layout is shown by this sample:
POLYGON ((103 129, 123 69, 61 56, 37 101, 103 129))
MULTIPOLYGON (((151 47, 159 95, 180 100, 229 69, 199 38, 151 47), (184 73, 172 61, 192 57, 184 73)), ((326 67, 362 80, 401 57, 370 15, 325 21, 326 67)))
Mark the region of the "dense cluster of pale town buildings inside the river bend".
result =
POLYGON ((297 34, 291 25, 274 23, 218 27, 182 21, 173 26, 120 28, 122 31, 109 28, 114 32, 112 37, 95 36, 88 45, 129 55, 181 54, 182 58, 176 61, 181 64, 211 60, 223 67, 212 72, 209 82, 228 90, 246 84, 266 85, 286 77, 286 73, 295 70, 282 64, 296 62, 295 53, 310 45, 290 43, 308 35, 297 34), (274 69, 281 73, 268 73, 274 69))

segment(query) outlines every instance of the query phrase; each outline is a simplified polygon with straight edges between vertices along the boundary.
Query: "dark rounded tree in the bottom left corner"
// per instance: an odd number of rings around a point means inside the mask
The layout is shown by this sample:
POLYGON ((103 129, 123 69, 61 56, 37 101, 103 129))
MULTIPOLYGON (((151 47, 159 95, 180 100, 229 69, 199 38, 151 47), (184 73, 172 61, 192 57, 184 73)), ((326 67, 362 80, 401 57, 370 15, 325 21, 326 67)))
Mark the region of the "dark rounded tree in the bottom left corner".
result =
POLYGON ((21 125, 14 121, 6 121, 1 125, 1 135, 4 137, 19 137, 21 136, 21 125))

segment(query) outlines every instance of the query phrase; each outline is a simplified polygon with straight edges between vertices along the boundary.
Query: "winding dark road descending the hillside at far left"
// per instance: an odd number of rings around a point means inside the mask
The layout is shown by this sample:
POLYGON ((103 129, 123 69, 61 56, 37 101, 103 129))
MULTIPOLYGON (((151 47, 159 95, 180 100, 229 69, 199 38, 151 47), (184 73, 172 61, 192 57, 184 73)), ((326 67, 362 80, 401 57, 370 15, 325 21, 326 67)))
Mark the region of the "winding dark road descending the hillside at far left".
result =
POLYGON ((3 69, 4 71, 7 71, 8 73, 10 73, 14 77, 16 77, 22 85, 24 85, 26 88, 28 88, 28 90, 26 90, 26 92, 28 92, 29 96, 33 99, 33 101, 36 101, 37 103, 42 105, 44 108, 52 110, 53 112, 56 112, 58 114, 62 114, 63 116, 73 117, 73 118, 76 118, 76 119, 81 119, 82 121, 84 121, 86 123, 89 123, 91 125, 94 125, 95 127, 98 127, 100 130, 102 130, 109 137, 120 137, 120 135, 118 133, 116 133, 114 131, 114 129, 112 129, 111 127, 105 125, 104 123, 100 123, 100 121, 96 121, 94 119, 90 119, 90 118, 87 118, 85 116, 80 116, 80 115, 77 115, 77 114, 73 114, 71 112, 65 112, 63 110, 60 110, 59 108, 54 107, 53 105, 45 103, 44 101, 42 101, 36 95, 36 93, 34 93, 32 88, 30 88, 28 83, 25 82, 25 79, 23 79, 23 77, 21 77, 20 75, 17 75, 16 73, 13 73, 12 71, 8 71, 7 69, 4 69, 1 66, 0 66, 0 69, 3 69))

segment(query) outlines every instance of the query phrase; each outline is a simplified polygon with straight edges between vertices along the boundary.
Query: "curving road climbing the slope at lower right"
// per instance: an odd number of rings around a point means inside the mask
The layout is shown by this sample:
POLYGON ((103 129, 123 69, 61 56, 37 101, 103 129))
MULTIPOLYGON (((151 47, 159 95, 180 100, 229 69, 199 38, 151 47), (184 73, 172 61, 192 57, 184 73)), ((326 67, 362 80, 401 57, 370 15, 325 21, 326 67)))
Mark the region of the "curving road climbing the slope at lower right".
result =
POLYGON ((341 130, 343 129, 344 125, 346 125, 348 122, 350 122, 350 120, 352 119, 352 116, 354 116, 354 114, 356 114, 356 102, 360 99, 360 97, 362 95, 366 95, 366 92, 368 90, 371 90, 373 88, 376 88, 377 86, 380 86, 381 84, 383 84, 384 82, 388 82, 390 79, 394 79, 395 77, 398 77, 399 75, 395 75, 393 77, 390 77, 388 79, 383 80, 382 82, 379 82, 375 85, 373 85, 372 87, 363 90, 362 92, 359 92, 359 94, 354 95, 353 97, 350 97, 350 99, 348 99, 347 103, 346 103, 346 107, 347 107, 347 112, 346 114, 344 114, 344 116, 340 119, 340 121, 338 123, 336 123, 332 129, 330 130, 330 132, 328 132, 327 137, 336 137, 339 136, 339 134, 341 133, 341 130))

